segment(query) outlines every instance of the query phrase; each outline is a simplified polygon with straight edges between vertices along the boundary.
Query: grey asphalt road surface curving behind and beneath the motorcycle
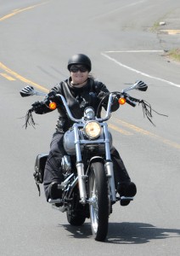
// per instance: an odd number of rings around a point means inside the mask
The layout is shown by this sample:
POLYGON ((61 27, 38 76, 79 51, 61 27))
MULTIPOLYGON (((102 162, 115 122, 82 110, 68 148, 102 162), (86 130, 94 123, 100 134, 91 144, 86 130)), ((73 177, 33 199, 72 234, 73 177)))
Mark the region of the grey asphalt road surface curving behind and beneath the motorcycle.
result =
POLYGON ((179 35, 151 28, 168 20, 177 29, 179 1, 8 0, 0 6, 0 255, 178 255, 180 73, 163 55, 179 35), (21 117, 39 98, 21 98, 20 89, 50 89, 69 76, 66 63, 77 52, 90 56, 93 75, 111 91, 142 79, 149 90, 132 96, 168 115, 153 112, 154 126, 140 106, 113 113, 114 144, 138 194, 128 207, 115 204, 104 243, 93 240, 89 220, 73 228, 43 191, 38 197, 34 161, 48 152, 57 113, 35 115, 36 129, 22 127, 21 117))

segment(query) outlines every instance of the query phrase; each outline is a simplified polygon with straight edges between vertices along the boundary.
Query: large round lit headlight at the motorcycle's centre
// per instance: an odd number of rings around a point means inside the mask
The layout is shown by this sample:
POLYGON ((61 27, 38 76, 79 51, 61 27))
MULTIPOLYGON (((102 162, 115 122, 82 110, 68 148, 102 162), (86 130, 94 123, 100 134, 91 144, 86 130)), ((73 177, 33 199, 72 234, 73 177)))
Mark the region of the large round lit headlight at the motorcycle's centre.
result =
POLYGON ((83 128, 84 134, 90 139, 96 139, 101 134, 101 125, 96 121, 89 121, 83 128))

